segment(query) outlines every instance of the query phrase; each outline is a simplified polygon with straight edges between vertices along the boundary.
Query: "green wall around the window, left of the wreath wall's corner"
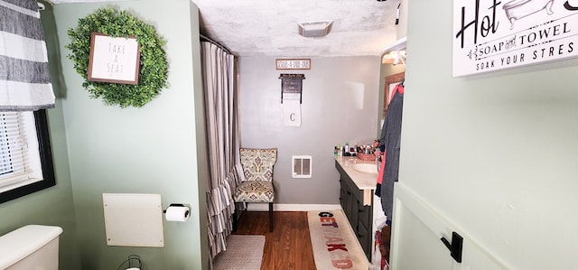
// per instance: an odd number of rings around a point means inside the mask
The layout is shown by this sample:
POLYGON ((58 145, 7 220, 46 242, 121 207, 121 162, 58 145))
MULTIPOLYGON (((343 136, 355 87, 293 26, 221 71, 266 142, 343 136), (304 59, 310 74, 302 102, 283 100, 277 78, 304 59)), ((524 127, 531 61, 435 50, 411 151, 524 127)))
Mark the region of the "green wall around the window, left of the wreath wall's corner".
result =
POLYGON ((54 50, 57 41, 54 34, 51 5, 47 5, 46 11, 42 12, 42 25, 49 61, 51 62, 52 85, 57 96, 55 107, 47 110, 56 186, 1 203, 0 235, 29 224, 59 226, 63 229, 59 239, 61 269, 79 269, 79 242, 72 202, 72 185, 62 117, 62 103, 59 96, 58 51, 54 50))

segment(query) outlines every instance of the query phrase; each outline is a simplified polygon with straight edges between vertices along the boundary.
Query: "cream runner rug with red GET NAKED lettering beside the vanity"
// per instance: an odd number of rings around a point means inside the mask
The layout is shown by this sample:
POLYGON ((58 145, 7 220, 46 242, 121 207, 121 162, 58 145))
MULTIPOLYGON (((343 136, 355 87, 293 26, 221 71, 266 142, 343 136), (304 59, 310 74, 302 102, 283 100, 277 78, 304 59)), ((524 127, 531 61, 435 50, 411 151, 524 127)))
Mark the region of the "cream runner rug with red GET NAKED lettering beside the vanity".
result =
POLYGON ((342 210, 309 211, 307 219, 317 270, 368 269, 368 258, 342 210))

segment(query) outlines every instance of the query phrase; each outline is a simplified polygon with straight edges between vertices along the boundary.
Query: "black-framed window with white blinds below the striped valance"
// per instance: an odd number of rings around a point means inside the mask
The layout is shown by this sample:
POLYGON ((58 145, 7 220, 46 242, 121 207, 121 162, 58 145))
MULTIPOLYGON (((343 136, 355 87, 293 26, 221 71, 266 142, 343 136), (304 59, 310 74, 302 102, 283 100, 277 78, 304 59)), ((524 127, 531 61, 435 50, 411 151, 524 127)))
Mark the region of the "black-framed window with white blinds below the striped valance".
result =
POLYGON ((55 184, 46 112, 0 112, 0 203, 55 184))

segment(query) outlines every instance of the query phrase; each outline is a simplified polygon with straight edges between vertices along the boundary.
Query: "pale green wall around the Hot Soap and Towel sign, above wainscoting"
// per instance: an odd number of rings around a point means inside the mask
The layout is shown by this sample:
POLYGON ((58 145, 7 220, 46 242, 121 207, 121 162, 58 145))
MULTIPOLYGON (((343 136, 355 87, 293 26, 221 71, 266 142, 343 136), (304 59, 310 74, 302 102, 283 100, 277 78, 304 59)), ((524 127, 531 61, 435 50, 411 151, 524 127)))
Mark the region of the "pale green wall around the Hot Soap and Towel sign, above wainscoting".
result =
POLYGON ((578 60, 452 78, 452 1, 418 3, 399 181, 512 269, 572 268, 578 60))

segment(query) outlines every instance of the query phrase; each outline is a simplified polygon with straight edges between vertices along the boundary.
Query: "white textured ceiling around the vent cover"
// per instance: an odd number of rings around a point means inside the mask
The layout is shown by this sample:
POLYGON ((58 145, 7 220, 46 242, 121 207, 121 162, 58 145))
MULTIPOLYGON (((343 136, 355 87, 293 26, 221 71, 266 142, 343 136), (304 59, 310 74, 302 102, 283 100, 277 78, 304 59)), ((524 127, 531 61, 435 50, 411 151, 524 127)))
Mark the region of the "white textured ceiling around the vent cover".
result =
MULTIPOLYGON (((50 1, 50 0, 49 0, 50 1)), ((162 0, 159 0, 162 1, 162 0)), ((52 0, 55 4, 107 0, 52 0)), ((380 56, 396 41, 400 0, 192 0, 200 33, 239 56, 380 56), (321 38, 299 35, 300 22, 333 21, 321 38)))

